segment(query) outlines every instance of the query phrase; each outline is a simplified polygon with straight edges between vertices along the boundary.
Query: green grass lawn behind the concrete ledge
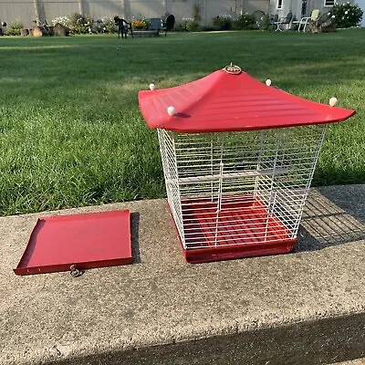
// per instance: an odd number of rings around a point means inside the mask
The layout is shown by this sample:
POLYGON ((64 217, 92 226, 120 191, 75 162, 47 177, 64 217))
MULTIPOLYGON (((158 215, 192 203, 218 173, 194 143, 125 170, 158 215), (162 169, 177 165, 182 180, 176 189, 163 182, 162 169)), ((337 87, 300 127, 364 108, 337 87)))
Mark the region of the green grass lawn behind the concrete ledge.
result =
POLYGON ((365 183, 365 29, 0 37, 0 214, 165 195, 156 130, 137 93, 231 61, 306 99, 357 110, 331 125, 315 184, 365 183))

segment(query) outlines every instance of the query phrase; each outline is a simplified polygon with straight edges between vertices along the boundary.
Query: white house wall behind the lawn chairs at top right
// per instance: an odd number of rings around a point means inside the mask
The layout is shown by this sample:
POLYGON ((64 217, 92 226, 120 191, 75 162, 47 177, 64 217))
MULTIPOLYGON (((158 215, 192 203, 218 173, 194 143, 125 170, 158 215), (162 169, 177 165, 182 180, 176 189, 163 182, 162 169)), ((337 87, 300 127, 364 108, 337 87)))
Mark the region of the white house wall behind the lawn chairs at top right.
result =
MULTIPOLYGON (((287 16, 287 13, 292 12, 294 16, 299 20, 302 16, 310 16, 312 10, 319 9, 320 14, 326 14, 332 8, 332 6, 325 6, 325 0, 283 0, 282 9, 277 9, 277 2, 279 0, 270 1, 270 14, 278 15, 279 17, 287 16), (307 11, 302 15, 303 1, 307 2, 307 11)), ((336 1, 336 4, 347 3, 348 0, 336 1)), ((350 4, 354 4, 354 0, 349 0, 350 4)))

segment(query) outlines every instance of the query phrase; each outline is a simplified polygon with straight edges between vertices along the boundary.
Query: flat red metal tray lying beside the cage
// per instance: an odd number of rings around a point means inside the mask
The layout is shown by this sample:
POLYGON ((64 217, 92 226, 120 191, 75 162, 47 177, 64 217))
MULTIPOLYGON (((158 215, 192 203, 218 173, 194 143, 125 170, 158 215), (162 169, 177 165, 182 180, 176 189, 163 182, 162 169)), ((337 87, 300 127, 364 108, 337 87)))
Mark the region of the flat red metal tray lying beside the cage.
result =
POLYGON ((16 275, 131 264, 130 211, 39 218, 16 275))

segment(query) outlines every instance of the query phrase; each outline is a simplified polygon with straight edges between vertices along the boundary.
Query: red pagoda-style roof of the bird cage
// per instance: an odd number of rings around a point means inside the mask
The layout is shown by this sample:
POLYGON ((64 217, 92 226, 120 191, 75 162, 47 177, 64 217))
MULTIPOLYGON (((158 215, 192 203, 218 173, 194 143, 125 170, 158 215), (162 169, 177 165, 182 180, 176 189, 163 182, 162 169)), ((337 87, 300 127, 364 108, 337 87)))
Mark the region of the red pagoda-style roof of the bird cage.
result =
POLYGON ((245 72, 224 69, 175 88, 141 90, 138 96, 150 128, 187 133, 330 123, 355 114, 268 87, 245 72))

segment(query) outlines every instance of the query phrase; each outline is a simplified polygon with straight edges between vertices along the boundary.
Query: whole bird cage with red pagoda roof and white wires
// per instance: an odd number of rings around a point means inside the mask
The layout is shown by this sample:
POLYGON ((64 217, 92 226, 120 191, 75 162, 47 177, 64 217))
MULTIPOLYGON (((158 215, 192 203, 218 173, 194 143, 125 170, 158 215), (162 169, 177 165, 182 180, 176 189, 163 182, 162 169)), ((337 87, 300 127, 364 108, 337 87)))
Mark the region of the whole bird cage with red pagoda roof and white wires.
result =
POLYGON ((198 263, 290 252, 326 124, 353 110, 300 99, 238 67, 140 91, 157 128, 183 254, 198 263))

